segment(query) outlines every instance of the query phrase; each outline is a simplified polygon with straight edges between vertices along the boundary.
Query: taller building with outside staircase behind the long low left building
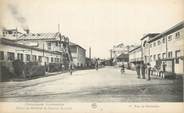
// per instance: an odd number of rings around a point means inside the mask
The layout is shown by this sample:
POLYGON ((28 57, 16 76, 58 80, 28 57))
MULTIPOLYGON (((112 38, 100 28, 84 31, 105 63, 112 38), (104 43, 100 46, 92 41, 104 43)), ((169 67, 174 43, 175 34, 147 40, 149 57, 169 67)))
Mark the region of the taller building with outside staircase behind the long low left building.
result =
MULTIPOLYGON (((39 48, 47 51, 60 53, 60 62, 68 66, 69 61, 72 61, 69 48, 69 38, 57 33, 28 33, 16 39, 19 44, 30 47, 39 48)), ((52 57, 47 56, 51 63, 54 63, 52 57)))

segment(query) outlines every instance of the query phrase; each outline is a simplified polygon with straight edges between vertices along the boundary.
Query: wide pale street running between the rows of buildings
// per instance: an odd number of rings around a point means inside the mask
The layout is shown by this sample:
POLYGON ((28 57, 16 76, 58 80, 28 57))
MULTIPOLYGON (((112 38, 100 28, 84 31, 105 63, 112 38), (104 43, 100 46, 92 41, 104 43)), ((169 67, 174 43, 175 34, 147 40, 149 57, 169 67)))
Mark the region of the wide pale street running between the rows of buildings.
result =
POLYGON ((182 80, 137 79, 135 71, 105 67, 22 82, 0 83, 1 101, 180 102, 182 80))

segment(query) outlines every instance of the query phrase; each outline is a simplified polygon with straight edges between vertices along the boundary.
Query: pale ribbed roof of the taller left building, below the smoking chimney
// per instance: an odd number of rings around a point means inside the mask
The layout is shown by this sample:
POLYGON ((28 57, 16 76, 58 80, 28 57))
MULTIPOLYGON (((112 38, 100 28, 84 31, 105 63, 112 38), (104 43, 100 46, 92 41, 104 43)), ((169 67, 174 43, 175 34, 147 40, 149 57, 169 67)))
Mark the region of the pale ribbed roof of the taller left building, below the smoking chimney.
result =
POLYGON ((60 33, 29 33, 17 38, 17 40, 56 40, 60 33))

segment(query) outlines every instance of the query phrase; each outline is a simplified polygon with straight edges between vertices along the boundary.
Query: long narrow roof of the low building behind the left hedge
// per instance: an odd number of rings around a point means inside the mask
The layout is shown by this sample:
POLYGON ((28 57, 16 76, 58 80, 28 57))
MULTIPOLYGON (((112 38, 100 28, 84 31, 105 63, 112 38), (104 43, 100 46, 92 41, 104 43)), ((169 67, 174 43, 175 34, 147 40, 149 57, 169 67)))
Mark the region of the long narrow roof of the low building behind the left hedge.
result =
MULTIPOLYGON (((16 43, 13 40, 10 39, 6 39, 6 38, 0 38, 0 44, 5 44, 5 45, 11 45, 11 46, 15 46, 15 47, 22 47, 22 48, 26 48, 26 49, 32 49, 32 50, 37 50, 37 51, 43 51, 43 49, 40 48, 34 48, 34 47, 30 47, 24 44, 19 44, 16 43)), ((49 53, 60 53, 60 52, 56 52, 56 51, 48 51, 48 50, 44 50, 45 52, 49 52, 49 53)))

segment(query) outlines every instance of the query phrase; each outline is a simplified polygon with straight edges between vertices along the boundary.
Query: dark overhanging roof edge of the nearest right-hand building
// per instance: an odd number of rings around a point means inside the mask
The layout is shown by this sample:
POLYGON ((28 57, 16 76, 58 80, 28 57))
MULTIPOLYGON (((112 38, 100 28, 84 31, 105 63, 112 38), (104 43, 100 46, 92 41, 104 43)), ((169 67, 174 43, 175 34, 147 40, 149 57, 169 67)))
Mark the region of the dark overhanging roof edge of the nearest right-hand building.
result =
POLYGON ((182 28, 184 28, 184 21, 182 21, 182 22, 176 24, 175 26, 171 27, 170 29, 168 29, 168 30, 166 30, 166 31, 164 31, 164 32, 162 32, 162 33, 160 33, 159 35, 155 36, 153 39, 151 39, 151 40, 148 41, 148 42, 152 42, 152 41, 155 41, 155 40, 157 40, 157 39, 160 39, 160 38, 162 38, 163 36, 168 35, 168 34, 171 34, 171 33, 175 32, 175 31, 177 31, 177 30, 180 30, 180 29, 182 29, 182 28))

